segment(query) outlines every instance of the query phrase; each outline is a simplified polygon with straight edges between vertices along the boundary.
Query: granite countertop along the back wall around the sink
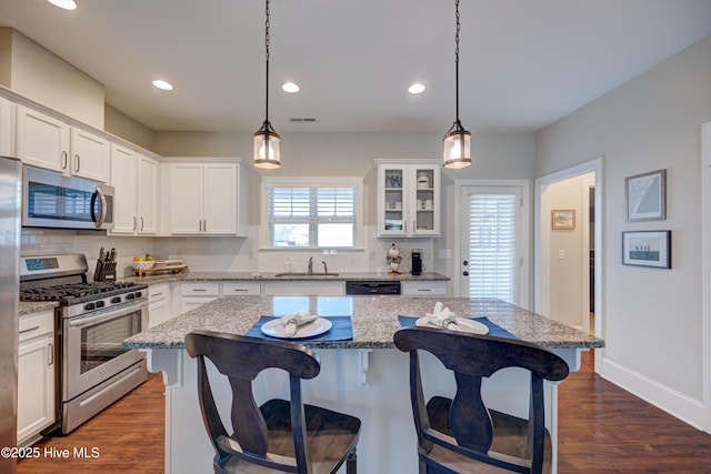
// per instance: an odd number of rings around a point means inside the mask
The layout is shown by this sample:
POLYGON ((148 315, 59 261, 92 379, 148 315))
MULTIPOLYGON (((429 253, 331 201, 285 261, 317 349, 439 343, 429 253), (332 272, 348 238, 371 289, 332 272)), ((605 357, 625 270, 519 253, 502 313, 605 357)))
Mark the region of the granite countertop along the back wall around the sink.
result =
POLYGON ((410 273, 401 273, 391 275, 383 272, 339 272, 338 276, 321 275, 314 273, 312 275, 292 274, 277 276, 281 272, 183 272, 183 273, 166 273, 161 275, 149 274, 147 276, 124 276, 120 279, 126 282, 144 283, 148 285, 182 282, 182 281, 239 281, 239 282, 313 282, 313 281, 449 281, 450 278, 434 272, 422 272, 421 275, 412 275, 410 273))

